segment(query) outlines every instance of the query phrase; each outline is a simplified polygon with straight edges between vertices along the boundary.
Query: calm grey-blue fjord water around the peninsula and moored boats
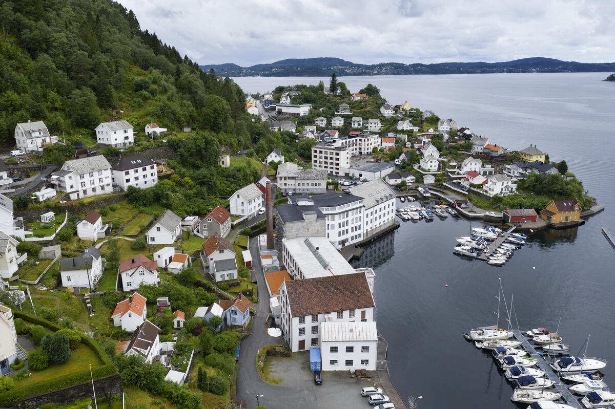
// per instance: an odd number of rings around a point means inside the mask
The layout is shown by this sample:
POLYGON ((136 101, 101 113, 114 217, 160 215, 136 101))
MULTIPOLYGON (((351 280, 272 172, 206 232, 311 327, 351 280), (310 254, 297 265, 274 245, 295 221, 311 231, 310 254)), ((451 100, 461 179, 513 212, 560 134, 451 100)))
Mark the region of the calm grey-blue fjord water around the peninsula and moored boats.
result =
MULTIPOLYGON (((376 271, 378 329, 389 342, 389 370, 402 397, 423 395, 419 408, 507 408, 512 388, 493 359, 461 337, 496 322, 498 278, 514 294, 514 327, 559 324, 576 353, 590 334, 587 356, 609 360, 615 389, 615 251, 600 227, 615 232, 615 84, 605 73, 473 74, 342 77, 352 92, 368 82, 393 104, 408 100, 453 118, 459 127, 511 149, 531 144, 565 159, 606 210, 580 227, 534 233, 504 267, 452 254, 464 219, 402 222, 375 241, 355 265, 376 271), (536 267, 534 270, 533 267, 536 267), (448 287, 445 285, 448 284, 448 287)), ((240 77, 247 92, 328 78, 240 77)), ((399 206, 399 204, 398 204, 399 206)), ((474 222, 474 225, 480 225, 474 222)), ((500 326, 506 327, 502 303, 500 326)), ((326 379, 325 379, 326 381, 326 379)), ((526 405, 525 405, 526 407, 526 405)))

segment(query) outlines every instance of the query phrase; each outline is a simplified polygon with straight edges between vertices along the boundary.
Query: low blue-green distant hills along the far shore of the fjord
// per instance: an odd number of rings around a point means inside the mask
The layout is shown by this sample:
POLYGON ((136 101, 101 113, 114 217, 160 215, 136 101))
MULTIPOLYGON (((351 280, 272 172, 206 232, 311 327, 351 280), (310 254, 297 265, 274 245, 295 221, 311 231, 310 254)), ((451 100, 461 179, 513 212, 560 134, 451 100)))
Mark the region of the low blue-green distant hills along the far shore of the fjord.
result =
POLYGON ((532 57, 520 60, 485 63, 437 63, 437 64, 355 64, 341 58, 289 58, 271 64, 256 64, 240 67, 237 64, 202 65, 209 71, 224 77, 313 77, 329 76, 374 76, 408 74, 489 74, 493 72, 606 72, 615 71, 615 63, 578 63, 554 58, 532 57))

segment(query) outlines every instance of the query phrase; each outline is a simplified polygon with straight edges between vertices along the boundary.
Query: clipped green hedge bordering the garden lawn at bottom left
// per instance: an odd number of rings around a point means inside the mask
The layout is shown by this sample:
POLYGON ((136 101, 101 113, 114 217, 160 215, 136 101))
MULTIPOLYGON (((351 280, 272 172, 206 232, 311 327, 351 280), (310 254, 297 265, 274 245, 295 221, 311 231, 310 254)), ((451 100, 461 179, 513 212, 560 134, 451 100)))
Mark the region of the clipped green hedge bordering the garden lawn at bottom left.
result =
MULTIPOLYGON (((23 311, 13 311, 13 316, 17 318, 22 318, 23 321, 28 321, 32 324, 42 325, 43 327, 49 328, 54 332, 62 329, 62 327, 60 327, 59 325, 49 322, 46 319, 36 317, 32 314, 24 313, 23 311)), ((105 350, 100 345, 98 345, 98 343, 92 338, 86 337, 82 334, 79 335, 81 336, 81 342, 92 348, 97 353, 98 357, 100 357, 100 360, 103 362, 103 365, 92 368, 93 378, 106 378, 107 376, 116 374, 117 368, 113 365, 113 362, 107 356, 105 350)), ((90 368, 88 367, 87 369, 79 372, 58 376, 58 378, 42 381, 36 384, 24 385, 19 388, 13 388, 10 391, 0 394, 0 405, 15 402, 28 396, 46 394, 48 392, 57 391, 58 389, 68 388, 69 386, 74 386, 76 384, 89 381, 90 368)))

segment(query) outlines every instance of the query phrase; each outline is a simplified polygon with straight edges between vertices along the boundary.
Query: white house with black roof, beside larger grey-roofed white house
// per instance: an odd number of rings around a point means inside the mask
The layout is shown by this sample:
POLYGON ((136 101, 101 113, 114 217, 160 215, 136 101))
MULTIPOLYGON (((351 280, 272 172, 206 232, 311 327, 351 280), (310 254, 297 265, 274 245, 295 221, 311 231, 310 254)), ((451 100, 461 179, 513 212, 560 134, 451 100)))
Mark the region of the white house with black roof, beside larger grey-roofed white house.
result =
POLYGON ((111 183, 123 192, 129 186, 147 189, 158 183, 156 162, 143 155, 121 157, 111 165, 111 183))

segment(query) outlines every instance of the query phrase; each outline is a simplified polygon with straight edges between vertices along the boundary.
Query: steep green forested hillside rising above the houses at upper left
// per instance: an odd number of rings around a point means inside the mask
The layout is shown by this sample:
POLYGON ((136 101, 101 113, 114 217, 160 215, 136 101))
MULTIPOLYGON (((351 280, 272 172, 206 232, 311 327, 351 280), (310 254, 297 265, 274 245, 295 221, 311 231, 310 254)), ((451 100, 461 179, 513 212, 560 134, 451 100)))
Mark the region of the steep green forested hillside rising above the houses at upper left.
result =
POLYGON ((242 90, 141 31, 121 4, 24 0, 3 2, 0 14, 0 144, 12 145, 15 124, 28 119, 68 140, 117 117, 137 131, 148 122, 191 125, 224 145, 249 143, 242 90))

